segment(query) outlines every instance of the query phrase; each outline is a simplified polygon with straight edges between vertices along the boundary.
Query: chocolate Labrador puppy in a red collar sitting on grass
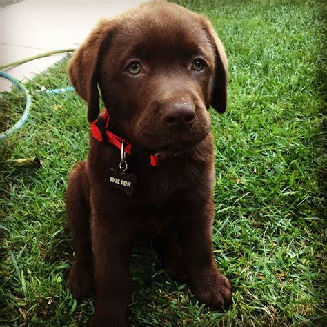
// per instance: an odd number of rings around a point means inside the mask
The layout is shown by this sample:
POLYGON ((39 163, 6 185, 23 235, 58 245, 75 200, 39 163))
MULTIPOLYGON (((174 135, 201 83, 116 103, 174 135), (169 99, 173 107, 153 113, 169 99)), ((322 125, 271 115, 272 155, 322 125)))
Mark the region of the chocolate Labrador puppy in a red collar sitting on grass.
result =
POLYGON ((228 308, 230 283, 212 255, 208 112, 226 110, 227 60, 208 19, 172 3, 142 4, 101 20, 68 72, 92 130, 66 197, 75 248, 69 287, 77 298, 97 292, 89 326, 128 325, 130 260, 140 238, 153 240, 199 302, 228 308))

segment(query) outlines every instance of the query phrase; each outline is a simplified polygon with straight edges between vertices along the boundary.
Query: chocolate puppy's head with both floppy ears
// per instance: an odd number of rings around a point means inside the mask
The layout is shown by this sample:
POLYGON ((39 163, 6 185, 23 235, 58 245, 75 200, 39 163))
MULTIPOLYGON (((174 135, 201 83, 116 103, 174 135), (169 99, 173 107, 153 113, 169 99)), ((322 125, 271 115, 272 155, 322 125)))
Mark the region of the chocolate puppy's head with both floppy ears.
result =
POLYGON ((99 115, 99 90, 110 123, 139 148, 176 151, 208 135, 211 104, 226 110, 227 59, 206 17, 166 2, 150 2, 102 20, 68 68, 99 115))

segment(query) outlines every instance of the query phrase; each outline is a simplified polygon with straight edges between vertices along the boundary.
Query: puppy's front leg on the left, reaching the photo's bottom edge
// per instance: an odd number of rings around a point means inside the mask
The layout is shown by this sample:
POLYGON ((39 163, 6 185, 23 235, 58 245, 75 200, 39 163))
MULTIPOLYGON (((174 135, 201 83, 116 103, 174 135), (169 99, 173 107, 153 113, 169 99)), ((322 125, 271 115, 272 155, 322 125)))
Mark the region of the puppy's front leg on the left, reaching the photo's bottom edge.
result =
POLYGON ((112 226, 110 217, 92 217, 97 304, 88 326, 128 326, 133 235, 112 226))

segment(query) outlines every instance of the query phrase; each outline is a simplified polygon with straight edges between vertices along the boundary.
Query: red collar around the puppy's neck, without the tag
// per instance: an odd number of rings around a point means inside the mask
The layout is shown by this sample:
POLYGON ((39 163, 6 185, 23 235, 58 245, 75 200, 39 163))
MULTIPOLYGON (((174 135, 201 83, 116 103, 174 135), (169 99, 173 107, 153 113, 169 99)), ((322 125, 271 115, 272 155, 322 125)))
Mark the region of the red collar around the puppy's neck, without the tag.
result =
MULTIPOLYGON (((125 141, 124 139, 121 139, 121 137, 118 137, 114 133, 110 132, 107 128, 109 125, 110 117, 108 115, 107 110, 105 110, 104 114, 102 116, 99 116, 95 121, 91 123, 91 132, 92 136, 99 142, 108 142, 119 148, 121 150, 121 143, 124 144, 124 152, 128 155, 131 154, 132 146, 130 143, 125 141), (99 121, 101 119, 101 122, 99 121), (99 125, 102 126, 99 126, 99 125), (103 140, 106 138, 105 140, 103 140)), ((151 166, 157 167, 160 164, 160 155, 150 155, 150 164, 151 166)))

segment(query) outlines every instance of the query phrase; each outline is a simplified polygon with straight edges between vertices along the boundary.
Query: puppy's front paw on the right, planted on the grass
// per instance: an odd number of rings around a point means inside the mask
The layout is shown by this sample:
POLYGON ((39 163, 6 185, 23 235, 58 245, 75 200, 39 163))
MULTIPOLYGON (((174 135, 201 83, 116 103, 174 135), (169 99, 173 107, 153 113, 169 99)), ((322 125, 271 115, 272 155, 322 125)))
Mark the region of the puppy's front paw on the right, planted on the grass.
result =
POLYGON ((192 290, 198 301, 212 310, 226 309, 232 304, 230 282, 217 268, 197 275, 197 279, 192 281, 192 290))

